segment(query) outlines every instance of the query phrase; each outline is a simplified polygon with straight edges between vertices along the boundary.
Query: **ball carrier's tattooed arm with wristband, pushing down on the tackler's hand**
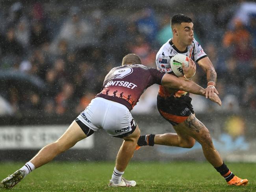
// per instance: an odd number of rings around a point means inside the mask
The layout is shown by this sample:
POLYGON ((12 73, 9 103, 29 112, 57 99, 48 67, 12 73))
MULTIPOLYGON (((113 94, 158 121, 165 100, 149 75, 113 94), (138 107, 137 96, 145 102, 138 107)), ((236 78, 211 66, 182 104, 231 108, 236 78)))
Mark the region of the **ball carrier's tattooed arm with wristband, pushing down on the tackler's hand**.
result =
POLYGON ((200 59, 198 62, 198 65, 202 67, 204 72, 206 73, 207 78, 207 88, 206 88, 206 98, 211 97, 214 95, 214 93, 218 93, 217 89, 215 89, 215 83, 217 80, 217 73, 215 72, 215 69, 209 59, 209 57, 204 57, 200 59))

